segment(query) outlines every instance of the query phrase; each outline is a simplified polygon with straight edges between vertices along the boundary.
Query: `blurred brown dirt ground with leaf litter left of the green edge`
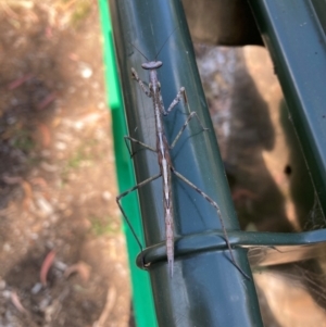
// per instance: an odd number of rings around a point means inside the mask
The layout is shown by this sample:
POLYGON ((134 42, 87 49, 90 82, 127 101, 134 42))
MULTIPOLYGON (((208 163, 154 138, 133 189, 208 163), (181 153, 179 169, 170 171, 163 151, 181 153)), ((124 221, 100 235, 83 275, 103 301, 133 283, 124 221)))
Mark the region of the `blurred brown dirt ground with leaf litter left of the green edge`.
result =
POLYGON ((0 20, 0 326, 128 326, 97 1, 0 20))

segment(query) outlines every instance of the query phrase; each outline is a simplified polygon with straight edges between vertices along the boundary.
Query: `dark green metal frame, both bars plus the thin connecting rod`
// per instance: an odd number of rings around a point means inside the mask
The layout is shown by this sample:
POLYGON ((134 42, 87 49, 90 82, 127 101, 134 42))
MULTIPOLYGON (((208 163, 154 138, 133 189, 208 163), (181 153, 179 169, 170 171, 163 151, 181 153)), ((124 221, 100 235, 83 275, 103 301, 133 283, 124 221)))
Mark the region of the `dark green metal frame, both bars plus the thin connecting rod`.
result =
MULTIPOLYGON (((325 74, 321 72, 326 72, 326 24, 325 15, 321 13, 323 4, 313 0, 300 3, 250 0, 249 3, 274 59, 325 213, 326 112, 323 104, 326 103, 326 95, 325 74)), ((130 67, 135 67, 141 79, 147 80, 147 74, 140 67, 145 60, 130 42, 149 59, 153 59, 176 28, 159 58, 163 61, 160 70, 163 99, 165 105, 168 105, 179 87, 185 86, 191 109, 199 114, 210 131, 201 131, 192 122, 172 152, 174 165, 217 201, 241 267, 250 274, 246 250, 239 247, 325 242, 324 229, 290 235, 238 230, 180 2, 112 0, 111 10, 129 135, 150 146, 154 146, 155 136, 152 103, 130 78, 130 67)), ((170 141, 185 122, 186 114, 185 106, 179 105, 166 118, 170 141)), ((159 167, 153 153, 137 150, 134 164, 136 178, 141 181, 156 174, 159 167)), ((243 279, 230 263, 216 213, 179 180, 174 179, 173 185, 178 237, 175 276, 172 279, 167 273, 164 248, 161 181, 156 180, 139 191, 145 243, 148 247, 142 254, 146 263, 150 264, 149 275, 159 325, 262 326, 254 285, 252 280, 243 279)), ((127 212, 130 217, 135 216, 136 211, 127 212)), ((139 259, 138 264, 142 266, 139 259)))

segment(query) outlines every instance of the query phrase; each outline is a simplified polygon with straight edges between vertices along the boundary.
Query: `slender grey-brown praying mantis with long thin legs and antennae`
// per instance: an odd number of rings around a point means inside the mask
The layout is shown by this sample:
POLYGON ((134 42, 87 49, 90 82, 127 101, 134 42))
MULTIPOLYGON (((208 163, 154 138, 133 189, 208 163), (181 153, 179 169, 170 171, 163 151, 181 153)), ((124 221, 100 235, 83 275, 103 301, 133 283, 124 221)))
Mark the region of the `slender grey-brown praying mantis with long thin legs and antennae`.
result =
MULTIPOLYGON (((171 36, 172 36, 172 34, 170 35, 170 37, 171 36)), ((165 40, 164 45, 166 43, 166 40, 165 40)), ((135 45, 131 45, 131 46, 134 48, 136 48, 135 45)), ((136 49, 138 50, 138 48, 136 48, 136 49)), ((162 49, 163 49, 163 47, 161 47, 159 53, 161 52, 162 49)), ((141 51, 139 51, 139 53, 141 53, 141 55, 145 56, 145 54, 141 51)), ((190 188, 195 189, 206 201, 209 201, 209 203, 211 205, 213 205, 215 207, 215 210, 217 211, 217 214, 218 214, 218 218, 221 221, 221 227, 222 227, 222 230, 223 230, 225 242, 226 242, 227 248, 229 250, 230 259, 231 259, 234 265, 238 268, 238 271, 246 278, 250 279, 250 277, 239 267, 239 265, 235 261, 233 250, 231 250, 231 247, 230 247, 230 243, 229 243, 229 240, 228 240, 227 231, 226 231, 225 225, 223 223, 223 217, 222 217, 218 204, 211 197, 209 197, 201 189, 199 189, 196 185, 193 185, 190 180, 188 180, 185 176, 183 176, 180 173, 178 173, 172 164, 170 150, 172 150, 175 147, 176 142, 181 137, 183 133, 185 131, 185 128, 188 126, 190 121, 195 117, 195 118, 197 118, 197 122, 201 126, 202 130, 208 130, 208 128, 203 127, 203 125, 201 124, 201 122, 200 122, 200 120, 199 120, 196 112, 190 112, 189 103, 187 102, 186 89, 184 87, 180 88, 180 90, 177 92, 175 99, 170 104, 167 111, 165 111, 162 95, 161 95, 161 83, 160 83, 159 76, 158 76, 158 70, 162 67, 163 63, 161 61, 156 61, 158 54, 155 55, 154 61, 149 61, 145 56, 148 60, 148 62, 141 64, 141 67, 143 70, 149 71, 150 81, 149 81, 149 87, 148 88, 146 87, 145 83, 138 77, 138 74, 137 74, 136 70, 131 68, 133 78, 139 84, 139 86, 142 89, 142 91, 145 92, 145 95, 147 97, 151 98, 152 101, 153 101, 153 111, 154 111, 154 114, 155 114, 155 129, 156 129, 155 130, 155 134, 156 134, 156 149, 153 149, 153 148, 145 144, 143 142, 141 142, 139 140, 136 140, 131 137, 125 137, 125 139, 129 139, 130 142, 141 144, 146 149, 155 152, 158 154, 158 163, 159 163, 159 167, 160 167, 160 174, 155 175, 153 177, 150 177, 150 178, 146 179, 145 181, 139 183, 135 187, 130 188, 129 190, 127 190, 127 191, 123 192, 122 194, 120 194, 118 197, 116 197, 116 202, 118 204, 118 207, 121 209, 121 211, 123 213, 123 216, 126 219, 128 226, 131 228, 133 235, 135 236, 135 238, 137 240, 137 243, 139 244, 140 251, 142 251, 142 247, 140 244, 140 241, 139 241, 136 232, 134 231, 134 228, 131 227, 131 224, 130 224, 125 211, 123 210, 123 207, 120 203, 120 200, 122 198, 128 196, 130 192, 133 192, 135 190, 139 190, 140 187, 147 185, 148 183, 153 181, 159 177, 162 177, 166 254, 167 254, 170 276, 173 277, 173 265, 174 265, 174 229, 173 229, 174 209, 173 209, 173 199, 172 199, 171 173, 175 174, 179 179, 181 179, 190 188), (185 103, 187 104, 187 108, 188 108, 190 114, 189 114, 187 121, 185 122, 185 124, 183 125, 183 127, 180 128, 179 133, 175 137, 174 141, 172 142, 172 146, 168 146, 167 140, 166 140, 166 136, 165 136, 165 130, 164 130, 163 116, 166 116, 167 114, 170 114, 172 112, 172 110, 180 102, 181 98, 184 98, 185 103)), ((129 147, 128 147, 128 149, 129 149, 129 147)), ((131 152, 131 151, 129 150, 129 152, 131 152)), ((133 155, 134 154, 130 153, 130 156, 133 156, 133 155)))

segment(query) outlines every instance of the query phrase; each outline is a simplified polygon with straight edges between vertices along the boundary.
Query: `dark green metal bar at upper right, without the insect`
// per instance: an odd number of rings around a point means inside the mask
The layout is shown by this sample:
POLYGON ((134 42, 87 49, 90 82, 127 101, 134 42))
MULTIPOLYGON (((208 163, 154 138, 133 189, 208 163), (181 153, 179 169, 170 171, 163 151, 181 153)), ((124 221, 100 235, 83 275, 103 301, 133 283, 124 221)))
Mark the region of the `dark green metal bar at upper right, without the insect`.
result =
POLYGON ((272 55, 324 216, 326 2, 249 0, 272 55))

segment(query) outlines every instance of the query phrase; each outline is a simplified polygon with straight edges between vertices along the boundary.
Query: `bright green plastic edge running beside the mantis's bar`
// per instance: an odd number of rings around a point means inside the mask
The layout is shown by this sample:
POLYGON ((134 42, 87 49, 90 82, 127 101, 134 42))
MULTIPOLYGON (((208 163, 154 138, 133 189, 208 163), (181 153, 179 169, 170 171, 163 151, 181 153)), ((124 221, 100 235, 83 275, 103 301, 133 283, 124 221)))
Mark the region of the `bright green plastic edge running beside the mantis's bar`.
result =
MULTIPOLYGON (((123 141, 124 136, 127 135, 127 126, 124 115, 120 79, 115 62, 110 8, 106 0, 99 0, 98 3, 103 38, 106 103, 111 109, 112 114, 115 167, 118 190, 122 192, 134 186, 136 181, 129 153, 123 141)), ((130 194, 129 197, 127 197, 127 199, 122 201, 122 203, 127 212, 134 213, 133 217, 129 217, 130 222, 140 240, 143 240, 137 194, 130 194)), ((136 325, 139 327, 158 326, 148 273, 139 269, 136 266, 135 259, 138 254, 138 244, 135 241, 131 231, 125 223, 123 223, 123 230, 127 240, 128 260, 133 288, 133 305, 136 325)))

